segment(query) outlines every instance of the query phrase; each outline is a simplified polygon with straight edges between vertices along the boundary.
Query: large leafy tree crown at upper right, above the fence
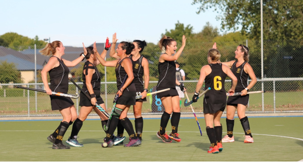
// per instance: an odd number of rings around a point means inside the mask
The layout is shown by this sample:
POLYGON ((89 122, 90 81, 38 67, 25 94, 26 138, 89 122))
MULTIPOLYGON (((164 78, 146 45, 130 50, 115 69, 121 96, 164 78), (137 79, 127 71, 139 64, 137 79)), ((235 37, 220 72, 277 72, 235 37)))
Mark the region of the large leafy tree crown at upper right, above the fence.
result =
MULTIPOLYGON (((193 0, 200 4, 197 14, 214 7, 221 15, 222 30, 238 30, 250 34, 250 38, 261 37, 260 1, 238 0, 193 0)), ((303 1, 263 0, 263 23, 265 40, 302 40, 303 1)))

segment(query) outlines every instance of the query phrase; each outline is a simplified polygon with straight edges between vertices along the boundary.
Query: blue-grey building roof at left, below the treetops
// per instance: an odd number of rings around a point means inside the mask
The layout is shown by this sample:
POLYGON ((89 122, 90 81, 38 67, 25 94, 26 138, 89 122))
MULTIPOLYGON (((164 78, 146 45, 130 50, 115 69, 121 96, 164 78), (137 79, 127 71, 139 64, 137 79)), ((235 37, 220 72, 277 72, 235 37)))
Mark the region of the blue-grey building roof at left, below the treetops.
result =
MULTIPOLYGON (((7 61, 8 63, 14 63, 16 65, 17 69, 20 71, 35 70, 34 63, 21 59, 21 58, 18 58, 18 57, 15 57, 13 55, 6 55, 6 56, 0 57, 0 62, 3 62, 3 61, 7 61)), ((37 70, 41 70, 41 69, 43 69, 43 66, 37 65, 37 70)))

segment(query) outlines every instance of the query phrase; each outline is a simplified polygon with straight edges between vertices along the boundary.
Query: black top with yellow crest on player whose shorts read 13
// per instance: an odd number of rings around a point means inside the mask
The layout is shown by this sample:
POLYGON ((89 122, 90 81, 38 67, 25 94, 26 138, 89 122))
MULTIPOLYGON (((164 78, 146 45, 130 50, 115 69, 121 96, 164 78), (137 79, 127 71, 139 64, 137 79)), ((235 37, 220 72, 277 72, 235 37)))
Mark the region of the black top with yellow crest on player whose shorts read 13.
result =
POLYGON ((144 85, 143 84, 144 68, 142 66, 143 56, 141 55, 141 57, 137 61, 132 60, 132 55, 130 55, 129 58, 132 62, 132 71, 134 76, 133 82, 144 85))

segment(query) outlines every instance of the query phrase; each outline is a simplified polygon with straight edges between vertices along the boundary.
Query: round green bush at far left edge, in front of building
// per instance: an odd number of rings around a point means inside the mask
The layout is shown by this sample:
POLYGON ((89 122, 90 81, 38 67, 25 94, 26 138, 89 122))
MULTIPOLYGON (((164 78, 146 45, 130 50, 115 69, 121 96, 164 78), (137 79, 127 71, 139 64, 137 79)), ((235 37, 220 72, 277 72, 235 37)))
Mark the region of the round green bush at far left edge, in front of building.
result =
POLYGON ((0 62, 0 83, 21 83, 21 74, 14 63, 0 62))

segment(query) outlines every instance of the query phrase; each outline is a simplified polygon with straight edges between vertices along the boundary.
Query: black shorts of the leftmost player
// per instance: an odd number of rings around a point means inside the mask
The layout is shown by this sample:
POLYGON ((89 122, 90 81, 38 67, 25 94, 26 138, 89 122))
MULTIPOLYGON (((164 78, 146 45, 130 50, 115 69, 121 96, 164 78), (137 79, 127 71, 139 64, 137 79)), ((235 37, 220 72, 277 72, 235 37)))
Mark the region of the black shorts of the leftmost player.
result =
POLYGON ((69 97, 50 95, 51 110, 62 110, 74 105, 69 97))

